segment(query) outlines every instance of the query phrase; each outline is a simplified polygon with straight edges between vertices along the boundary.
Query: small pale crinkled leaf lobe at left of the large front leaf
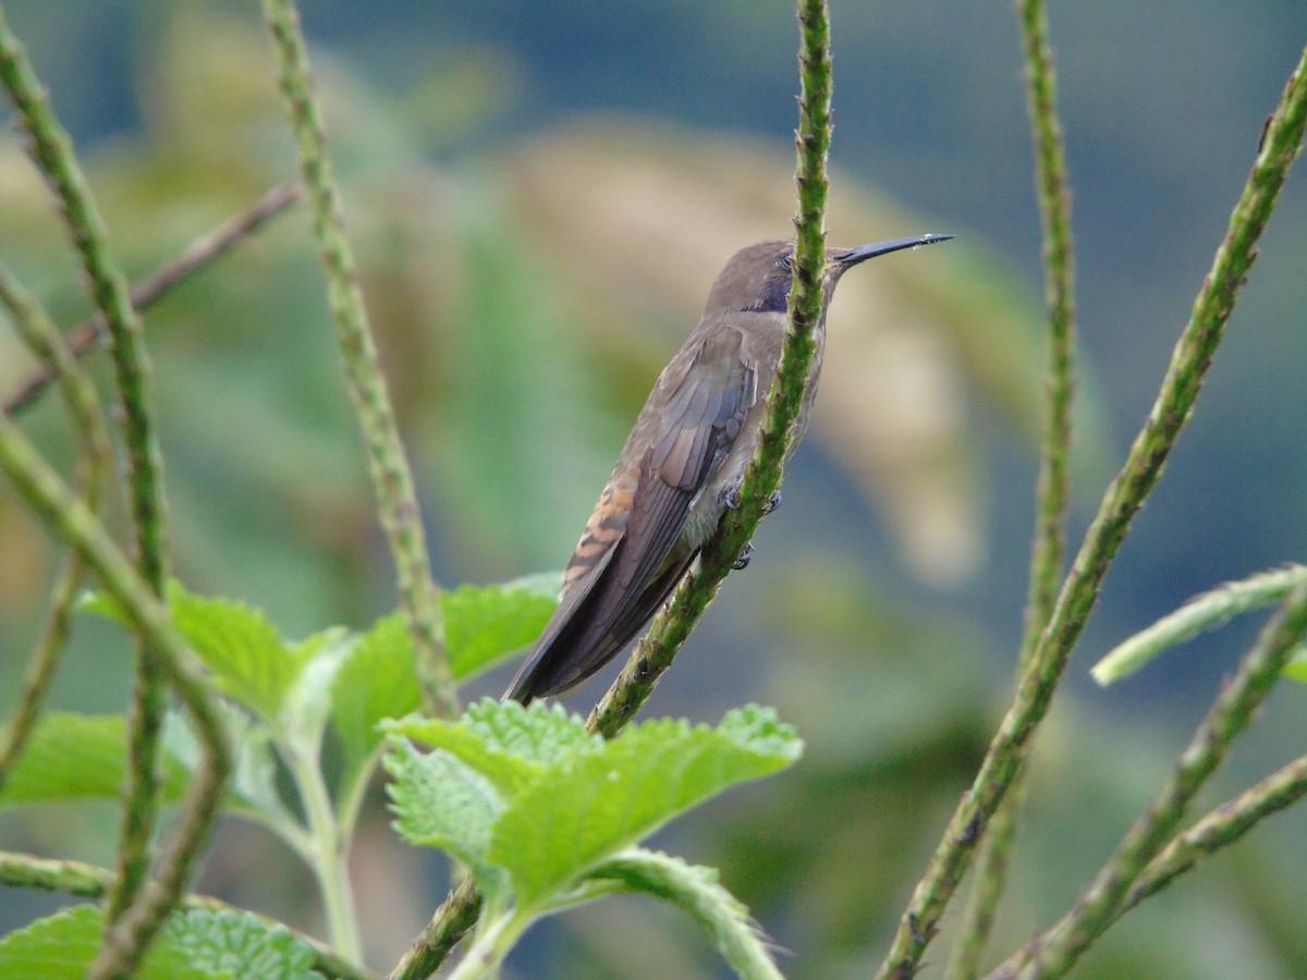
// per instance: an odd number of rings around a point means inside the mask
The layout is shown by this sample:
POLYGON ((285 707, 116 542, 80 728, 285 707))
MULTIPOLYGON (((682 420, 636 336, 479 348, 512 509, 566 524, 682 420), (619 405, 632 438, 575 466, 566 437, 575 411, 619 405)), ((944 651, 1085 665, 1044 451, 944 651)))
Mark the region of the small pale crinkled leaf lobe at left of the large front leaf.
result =
POLYGON ((405 840, 485 866, 490 828, 505 806, 486 776, 447 751, 420 753, 403 738, 386 754, 386 770, 395 828, 405 840))

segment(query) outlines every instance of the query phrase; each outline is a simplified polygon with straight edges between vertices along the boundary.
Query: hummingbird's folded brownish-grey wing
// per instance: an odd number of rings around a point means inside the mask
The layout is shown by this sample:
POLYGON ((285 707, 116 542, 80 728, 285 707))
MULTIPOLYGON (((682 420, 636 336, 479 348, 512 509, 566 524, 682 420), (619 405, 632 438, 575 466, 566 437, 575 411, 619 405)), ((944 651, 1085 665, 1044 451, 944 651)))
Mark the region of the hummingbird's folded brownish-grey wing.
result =
POLYGON ((659 378, 563 575, 562 601, 505 698, 572 687, 617 656, 694 561, 690 511, 758 400, 742 332, 704 321, 659 378), (716 329, 714 329, 716 327, 716 329))

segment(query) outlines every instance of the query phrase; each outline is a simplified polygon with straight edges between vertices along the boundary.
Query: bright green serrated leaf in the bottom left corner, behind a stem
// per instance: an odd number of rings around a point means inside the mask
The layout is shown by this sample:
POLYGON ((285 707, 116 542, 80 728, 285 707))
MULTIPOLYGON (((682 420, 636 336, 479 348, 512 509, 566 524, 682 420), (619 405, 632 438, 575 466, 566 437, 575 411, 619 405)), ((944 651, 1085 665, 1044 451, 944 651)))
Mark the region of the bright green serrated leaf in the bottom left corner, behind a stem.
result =
MULTIPOLYGON (((0 976, 7 980, 82 980, 95 959, 105 916, 95 906, 77 906, 0 939, 0 976)), ((208 970, 161 941, 132 973, 135 980, 238 980, 247 973, 208 970)), ((311 975, 310 975, 311 976, 311 975)))

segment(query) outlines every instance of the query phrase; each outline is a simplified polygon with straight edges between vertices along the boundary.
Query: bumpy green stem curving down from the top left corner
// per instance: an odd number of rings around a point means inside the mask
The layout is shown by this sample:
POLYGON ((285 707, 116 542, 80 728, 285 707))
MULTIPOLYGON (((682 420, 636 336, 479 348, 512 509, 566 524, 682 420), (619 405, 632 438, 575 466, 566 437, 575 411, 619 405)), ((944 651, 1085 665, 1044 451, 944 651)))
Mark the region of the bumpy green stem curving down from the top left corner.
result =
MULTIPOLYGON (((136 534, 136 563, 156 595, 162 595, 165 517, 162 457, 150 418, 149 361, 141 323, 132 308, 127 280, 108 253, 105 225, 86 178, 73 155, 72 140, 55 115, 50 97, 0 8, 0 82, 22 116, 31 153, 63 209, 90 294, 112 340, 114 372, 122 405, 123 442, 128 457, 128 486, 136 534)), ((131 712, 127 804, 119 843, 119 878, 106 903, 108 923, 116 923, 136 902, 149 865, 150 835, 158 815, 158 740, 166 707, 165 668, 141 644, 131 712)), ((107 937, 112 930, 106 932, 107 937)), ((135 959, 140 950, 132 951, 135 959)))

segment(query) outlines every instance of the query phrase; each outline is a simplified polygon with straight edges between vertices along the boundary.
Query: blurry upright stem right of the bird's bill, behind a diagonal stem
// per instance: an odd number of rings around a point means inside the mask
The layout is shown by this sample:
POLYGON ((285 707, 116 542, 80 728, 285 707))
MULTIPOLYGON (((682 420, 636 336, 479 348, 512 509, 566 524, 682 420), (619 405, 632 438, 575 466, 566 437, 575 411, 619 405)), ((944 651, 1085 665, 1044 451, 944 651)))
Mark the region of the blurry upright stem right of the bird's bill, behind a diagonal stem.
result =
MULTIPOLYGON (((1057 73, 1048 46, 1048 16, 1043 0, 1021 0, 1022 50, 1026 59, 1026 107, 1035 150, 1035 187, 1043 226, 1044 302, 1048 307, 1048 366, 1044 435, 1035 491, 1035 537, 1030 555, 1025 631, 1018 678, 1052 615, 1057 579, 1067 557, 1068 464, 1076 354, 1076 265, 1070 233, 1070 193, 1067 153, 1057 122, 1057 73)), ((1008 875, 1008 855, 1017 836, 1025 793, 1022 770, 995 810, 980 843, 971 896, 945 975, 970 980, 993 928, 1008 875)))

